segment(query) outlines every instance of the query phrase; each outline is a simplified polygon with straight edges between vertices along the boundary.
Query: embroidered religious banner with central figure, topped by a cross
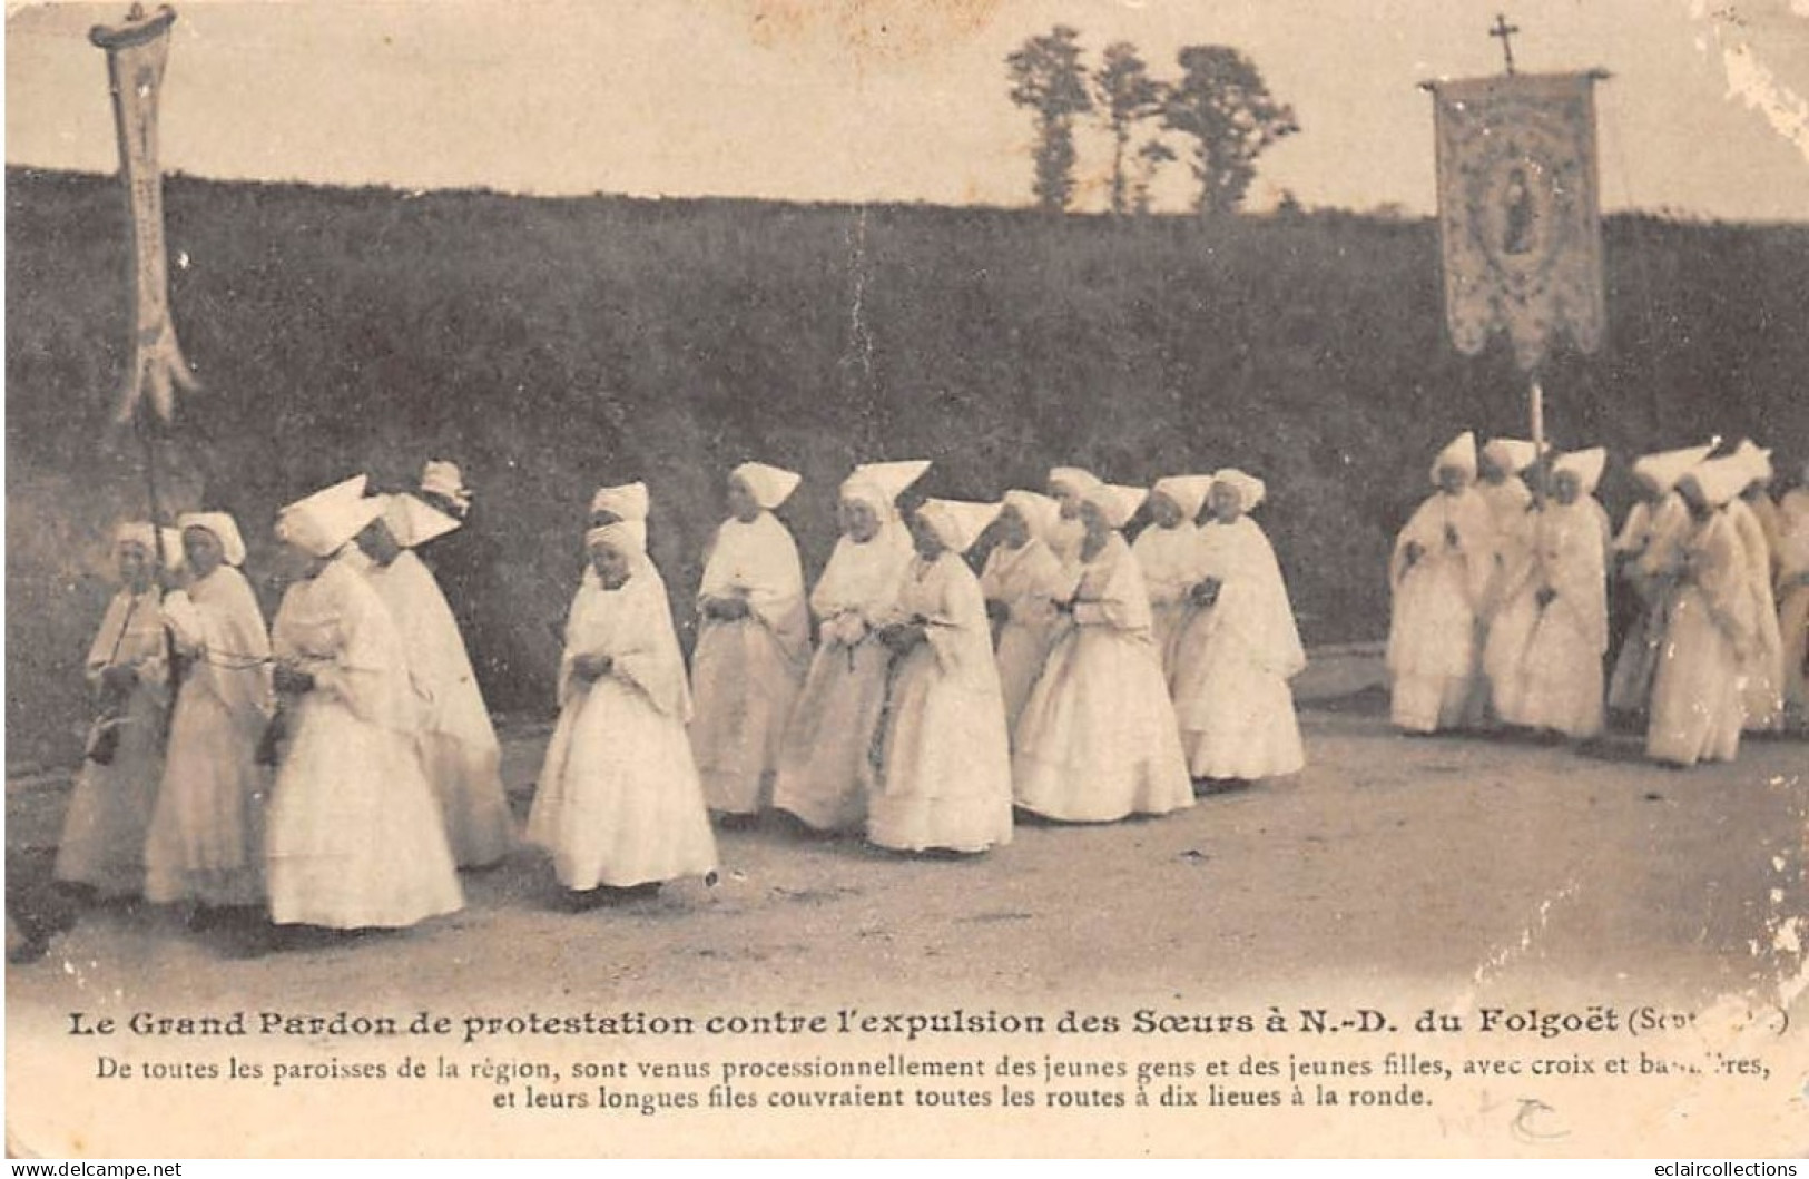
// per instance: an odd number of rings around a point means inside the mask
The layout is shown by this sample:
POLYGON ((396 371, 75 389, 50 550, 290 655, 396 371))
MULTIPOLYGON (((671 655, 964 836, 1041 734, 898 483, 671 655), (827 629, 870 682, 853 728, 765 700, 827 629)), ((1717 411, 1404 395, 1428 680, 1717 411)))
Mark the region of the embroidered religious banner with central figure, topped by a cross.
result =
POLYGON ((1529 371, 1561 336, 1585 353, 1601 347, 1596 78, 1505 74, 1429 87, 1445 324, 1463 354, 1496 331, 1529 371))

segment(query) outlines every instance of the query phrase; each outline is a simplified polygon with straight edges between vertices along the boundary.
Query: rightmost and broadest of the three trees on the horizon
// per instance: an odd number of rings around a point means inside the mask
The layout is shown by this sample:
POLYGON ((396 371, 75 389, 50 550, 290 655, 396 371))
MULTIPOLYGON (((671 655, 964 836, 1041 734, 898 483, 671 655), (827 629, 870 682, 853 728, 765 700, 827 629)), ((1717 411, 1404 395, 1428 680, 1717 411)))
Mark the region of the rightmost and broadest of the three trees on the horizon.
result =
POLYGON ((1179 63, 1181 80, 1169 87, 1163 127, 1194 141, 1196 212, 1236 213, 1255 179, 1257 156, 1301 125, 1293 107, 1268 92, 1261 71, 1237 49, 1187 45, 1179 63))

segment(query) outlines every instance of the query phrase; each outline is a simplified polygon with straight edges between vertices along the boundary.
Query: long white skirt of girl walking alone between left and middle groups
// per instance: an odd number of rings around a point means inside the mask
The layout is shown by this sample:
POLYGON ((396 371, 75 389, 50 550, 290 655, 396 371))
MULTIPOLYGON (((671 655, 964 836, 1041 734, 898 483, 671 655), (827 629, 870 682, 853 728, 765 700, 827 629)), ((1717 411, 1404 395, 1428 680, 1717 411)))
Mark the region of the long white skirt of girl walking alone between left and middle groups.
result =
POLYGON ((528 812, 528 843, 577 891, 716 868, 704 787, 678 720, 613 676, 566 700, 528 812))

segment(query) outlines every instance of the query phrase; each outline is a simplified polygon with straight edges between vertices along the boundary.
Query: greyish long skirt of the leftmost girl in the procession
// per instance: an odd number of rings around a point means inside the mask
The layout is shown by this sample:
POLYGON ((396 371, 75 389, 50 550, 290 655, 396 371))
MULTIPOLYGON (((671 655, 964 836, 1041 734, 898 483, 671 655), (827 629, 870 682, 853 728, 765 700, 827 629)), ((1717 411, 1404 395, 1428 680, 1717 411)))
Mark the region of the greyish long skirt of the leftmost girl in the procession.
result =
POLYGON ((134 693, 112 765, 83 761, 56 844, 56 879, 103 897, 145 891, 145 832, 163 779, 163 705, 134 693))

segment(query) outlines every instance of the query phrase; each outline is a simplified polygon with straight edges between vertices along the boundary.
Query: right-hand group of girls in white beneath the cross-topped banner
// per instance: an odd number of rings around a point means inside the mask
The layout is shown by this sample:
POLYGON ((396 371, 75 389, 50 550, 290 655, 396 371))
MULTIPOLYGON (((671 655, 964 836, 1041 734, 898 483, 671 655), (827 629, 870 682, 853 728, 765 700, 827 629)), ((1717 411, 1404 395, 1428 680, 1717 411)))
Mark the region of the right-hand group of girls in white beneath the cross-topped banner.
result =
POLYGON ((1769 450, 1715 448, 1639 457, 1639 501, 1615 533, 1594 497, 1601 448, 1478 450, 1473 434, 1445 447, 1389 566, 1395 725, 1586 741, 1619 714, 1673 767, 1731 761, 1744 732, 1802 729, 1809 468, 1773 501, 1769 450), (1610 584, 1637 606, 1612 664, 1610 584))

